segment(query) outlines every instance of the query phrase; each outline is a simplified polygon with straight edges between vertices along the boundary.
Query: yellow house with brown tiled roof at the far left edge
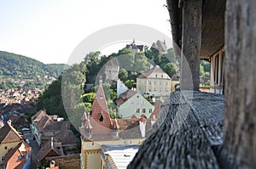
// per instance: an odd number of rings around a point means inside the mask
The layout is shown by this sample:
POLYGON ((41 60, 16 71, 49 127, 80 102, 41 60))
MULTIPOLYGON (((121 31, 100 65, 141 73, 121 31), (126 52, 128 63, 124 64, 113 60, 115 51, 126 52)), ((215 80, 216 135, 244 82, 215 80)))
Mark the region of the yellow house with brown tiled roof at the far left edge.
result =
POLYGON ((0 129, 0 164, 4 163, 5 155, 9 150, 14 149, 22 140, 20 133, 9 124, 5 124, 0 129))

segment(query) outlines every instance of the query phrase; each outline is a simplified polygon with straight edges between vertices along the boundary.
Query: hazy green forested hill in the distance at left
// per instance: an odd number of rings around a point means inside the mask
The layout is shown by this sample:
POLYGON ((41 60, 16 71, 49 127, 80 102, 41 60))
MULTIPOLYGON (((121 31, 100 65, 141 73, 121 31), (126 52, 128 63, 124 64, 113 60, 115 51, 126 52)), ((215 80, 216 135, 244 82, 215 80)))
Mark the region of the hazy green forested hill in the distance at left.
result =
POLYGON ((66 67, 65 64, 44 64, 20 54, 0 51, 0 88, 24 87, 22 82, 29 82, 28 87, 46 87, 66 67))

